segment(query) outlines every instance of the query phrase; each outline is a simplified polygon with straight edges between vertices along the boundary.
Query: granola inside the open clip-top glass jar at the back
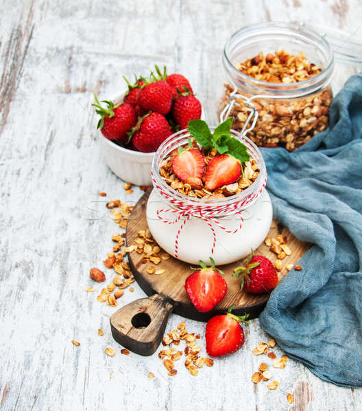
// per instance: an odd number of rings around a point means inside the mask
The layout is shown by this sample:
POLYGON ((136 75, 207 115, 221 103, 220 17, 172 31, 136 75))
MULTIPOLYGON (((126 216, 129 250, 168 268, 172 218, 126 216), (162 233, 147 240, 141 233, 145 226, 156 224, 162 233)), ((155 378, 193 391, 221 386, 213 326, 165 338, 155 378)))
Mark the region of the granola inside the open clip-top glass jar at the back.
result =
MULTIPOLYGON (((291 84, 311 79, 322 69, 310 63, 304 53, 292 55, 284 50, 275 54, 262 52, 237 67, 241 73, 257 80, 272 83, 291 84)), ((220 111, 228 104, 233 87, 225 84, 226 94, 220 104, 220 111)), ((245 94, 241 92, 242 94, 245 94)), ((328 126, 328 112, 332 101, 330 87, 297 99, 278 101, 256 99, 258 110, 255 128, 249 133, 256 145, 264 147, 285 147, 289 151, 300 147, 318 132, 328 126)), ((248 109, 242 99, 237 99, 231 115, 233 128, 240 131, 248 119, 248 109)))

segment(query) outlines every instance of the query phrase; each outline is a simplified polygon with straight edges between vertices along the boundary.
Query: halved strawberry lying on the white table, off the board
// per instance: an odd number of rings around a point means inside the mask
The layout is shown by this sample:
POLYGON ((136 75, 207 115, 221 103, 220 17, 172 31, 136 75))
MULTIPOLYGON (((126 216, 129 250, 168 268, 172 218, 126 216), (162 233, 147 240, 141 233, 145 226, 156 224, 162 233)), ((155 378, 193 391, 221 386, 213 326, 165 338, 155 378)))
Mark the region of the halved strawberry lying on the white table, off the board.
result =
POLYGON ((237 316, 231 314, 231 309, 226 314, 214 316, 206 324, 206 351, 210 356, 226 356, 243 346, 244 332, 239 322, 248 323, 245 320, 249 315, 237 316))

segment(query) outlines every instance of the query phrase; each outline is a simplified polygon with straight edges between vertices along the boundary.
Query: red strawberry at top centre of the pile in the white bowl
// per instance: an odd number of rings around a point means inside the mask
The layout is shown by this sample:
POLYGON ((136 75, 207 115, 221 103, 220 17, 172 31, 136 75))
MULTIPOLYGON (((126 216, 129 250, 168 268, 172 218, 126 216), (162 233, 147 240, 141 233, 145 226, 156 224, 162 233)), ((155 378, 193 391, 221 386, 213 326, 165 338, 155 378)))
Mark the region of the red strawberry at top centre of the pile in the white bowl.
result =
POLYGON ((172 88, 165 80, 146 83, 138 93, 137 103, 146 112, 167 114, 172 105, 172 88))

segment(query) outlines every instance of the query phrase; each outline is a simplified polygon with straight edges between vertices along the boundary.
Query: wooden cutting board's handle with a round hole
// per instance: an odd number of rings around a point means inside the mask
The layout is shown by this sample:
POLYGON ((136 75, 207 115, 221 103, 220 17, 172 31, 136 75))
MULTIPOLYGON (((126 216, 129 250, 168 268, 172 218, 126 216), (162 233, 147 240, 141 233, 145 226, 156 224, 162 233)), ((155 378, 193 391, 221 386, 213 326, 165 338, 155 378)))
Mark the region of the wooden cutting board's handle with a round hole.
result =
POLYGON ((151 356, 160 345, 173 305, 154 294, 120 308, 110 317, 112 336, 123 347, 151 356))

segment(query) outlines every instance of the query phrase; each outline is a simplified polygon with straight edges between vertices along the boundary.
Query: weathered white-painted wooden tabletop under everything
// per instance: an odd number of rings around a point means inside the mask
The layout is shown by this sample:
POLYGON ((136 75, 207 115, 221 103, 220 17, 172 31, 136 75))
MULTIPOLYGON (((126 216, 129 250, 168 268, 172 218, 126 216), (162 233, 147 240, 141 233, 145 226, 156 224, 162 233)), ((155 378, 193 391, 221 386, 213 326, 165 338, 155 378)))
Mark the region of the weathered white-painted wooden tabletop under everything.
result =
MULTIPOLYGON (((322 382, 292 360, 284 370, 273 369, 276 391, 255 386, 250 377, 261 358, 251 351, 267 339, 257 320, 245 327, 237 354, 197 377, 182 364, 168 377, 156 355, 121 355, 109 327, 117 308, 101 306, 84 291, 93 285, 90 267, 101 266, 117 232, 97 192, 130 202, 141 196, 138 189, 125 195, 101 158, 93 91, 108 97, 124 87, 121 74, 167 64, 189 77, 206 119, 215 122, 221 51, 236 29, 304 19, 352 33, 361 28, 361 13, 360 0, 313 6, 300 0, 1 1, 2 410, 361 408, 361 389, 322 382), (97 336, 99 327, 104 336, 97 336), (106 347, 117 349, 114 358, 106 347), (287 393, 295 396, 293 406, 287 393)), ((337 65, 335 91, 357 71, 337 65)), ((135 284, 121 301, 140 297, 135 284)), ((167 331, 180 321, 172 314, 167 331)), ((186 323, 204 335, 204 323, 186 323)))

